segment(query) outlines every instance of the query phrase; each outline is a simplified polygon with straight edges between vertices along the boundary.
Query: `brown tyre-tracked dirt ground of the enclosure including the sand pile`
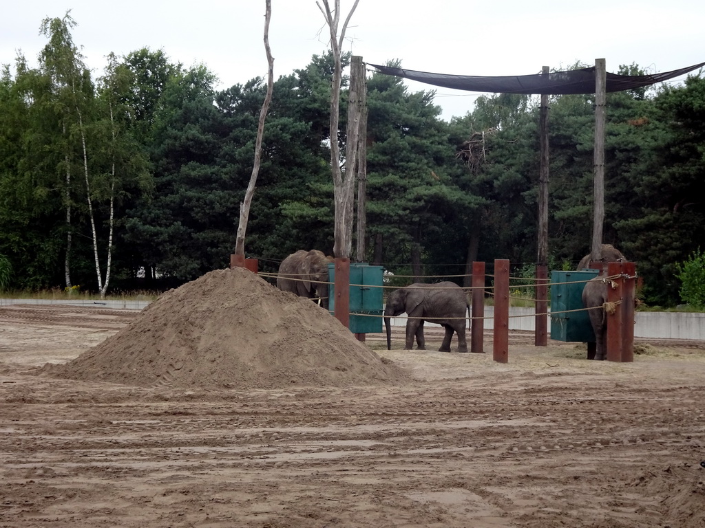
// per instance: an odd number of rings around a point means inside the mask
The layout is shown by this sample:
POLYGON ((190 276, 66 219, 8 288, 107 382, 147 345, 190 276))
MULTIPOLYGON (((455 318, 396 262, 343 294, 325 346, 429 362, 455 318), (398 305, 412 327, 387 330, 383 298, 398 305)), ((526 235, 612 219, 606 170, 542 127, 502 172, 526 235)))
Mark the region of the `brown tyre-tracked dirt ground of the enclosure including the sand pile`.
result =
POLYGON ((1 527, 705 526, 701 343, 386 351, 223 274, 142 312, 0 308, 1 527))

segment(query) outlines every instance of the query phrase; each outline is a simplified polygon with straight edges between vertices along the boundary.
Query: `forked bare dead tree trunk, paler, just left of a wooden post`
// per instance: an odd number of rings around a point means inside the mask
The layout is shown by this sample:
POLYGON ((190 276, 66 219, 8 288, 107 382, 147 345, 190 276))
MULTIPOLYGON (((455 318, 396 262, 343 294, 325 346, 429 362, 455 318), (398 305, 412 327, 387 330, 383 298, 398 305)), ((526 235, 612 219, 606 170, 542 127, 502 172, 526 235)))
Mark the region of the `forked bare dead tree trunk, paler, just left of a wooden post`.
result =
MULTIPOLYGON (((335 227, 333 236, 335 242, 333 244, 333 254, 338 258, 350 258, 350 253, 353 250, 353 184, 355 182, 355 171, 345 170, 346 174, 343 177, 341 170, 341 155, 338 147, 338 112, 340 109, 341 99, 341 80, 343 78, 343 65, 341 61, 341 47, 345 39, 345 30, 350 23, 350 18, 357 8, 357 3, 360 0, 355 0, 355 4, 350 9, 348 17, 345 18, 345 23, 341 28, 341 34, 338 35, 338 25, 340 23, 341 2, 335 0, 335 8, 331 10, 329 0, 322 0, 323 6, 316 3, 321 13, 323 13, 331 35, 331 51, 333 51, 333 80, 331 82, 331 122, 330 122, 330 138, 331 138, 331 172, 333 173, 333 202, 335 206, 335 227)), ((352 138, 357 143, 357 135, 352 138)), ((348 137, 348 143, 351 138, 348 137)))

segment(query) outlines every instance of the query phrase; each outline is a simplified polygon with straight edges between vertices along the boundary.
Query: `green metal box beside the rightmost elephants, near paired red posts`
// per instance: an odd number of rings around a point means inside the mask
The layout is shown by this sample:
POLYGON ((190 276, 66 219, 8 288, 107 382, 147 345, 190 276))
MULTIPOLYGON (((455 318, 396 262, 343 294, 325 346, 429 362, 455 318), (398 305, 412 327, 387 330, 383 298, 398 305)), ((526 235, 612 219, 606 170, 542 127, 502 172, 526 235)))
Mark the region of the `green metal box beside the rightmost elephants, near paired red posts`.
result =
POLYGON ((551 271, 551 339, 558 341, 595 341, 587 311, 580 310, 585 281, 596 277, 598 270, 551 271), (570 283, 570 284, 569 284, 570 283))

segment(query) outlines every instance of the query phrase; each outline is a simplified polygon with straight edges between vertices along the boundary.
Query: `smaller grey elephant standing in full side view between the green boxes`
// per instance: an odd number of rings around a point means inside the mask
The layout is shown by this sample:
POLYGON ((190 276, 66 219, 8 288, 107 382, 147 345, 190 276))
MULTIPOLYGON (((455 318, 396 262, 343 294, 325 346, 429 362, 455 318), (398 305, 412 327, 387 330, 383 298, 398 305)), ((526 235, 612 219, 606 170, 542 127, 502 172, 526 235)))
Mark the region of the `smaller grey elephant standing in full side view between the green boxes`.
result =
POLYGON ((439 351, 450 352, 450 339, 453 338, 453 332, 456 332, 458 334, 458 352, 467 352, 467 342, 465 341, 467 307, 465 292, 454 282, 415 283, 392 291, 384 308, 387 350, 391 350, 390 318, 406 312, 410 318, 406 322, 407 350, 413 348, 414 337, 416 337, 419 350, 426 349, 424 320, 429 320, 429 322, 436 322, 446 329, 446 337, 443 337, 443 344, 441 344, 439 351))

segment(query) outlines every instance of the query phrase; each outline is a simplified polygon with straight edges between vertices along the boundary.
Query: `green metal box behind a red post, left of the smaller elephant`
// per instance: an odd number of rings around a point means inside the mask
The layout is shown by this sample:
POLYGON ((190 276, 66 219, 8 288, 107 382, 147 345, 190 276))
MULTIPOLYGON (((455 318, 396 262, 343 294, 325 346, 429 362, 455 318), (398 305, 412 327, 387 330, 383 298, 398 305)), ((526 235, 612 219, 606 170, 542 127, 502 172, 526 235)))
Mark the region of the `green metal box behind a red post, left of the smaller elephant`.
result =
MULTIPOLYGON (((382 266, 350 263, 350 332, 369 334, 382 331, 382 266), (378 315, 379 317, 369 317, 378 315)), ((336 265, 328 265, 329 310, 335 313, 336 265)))

